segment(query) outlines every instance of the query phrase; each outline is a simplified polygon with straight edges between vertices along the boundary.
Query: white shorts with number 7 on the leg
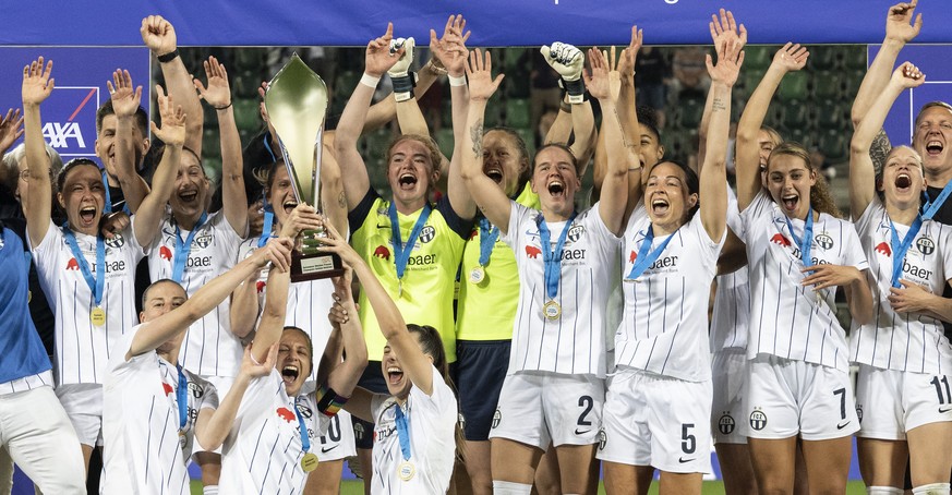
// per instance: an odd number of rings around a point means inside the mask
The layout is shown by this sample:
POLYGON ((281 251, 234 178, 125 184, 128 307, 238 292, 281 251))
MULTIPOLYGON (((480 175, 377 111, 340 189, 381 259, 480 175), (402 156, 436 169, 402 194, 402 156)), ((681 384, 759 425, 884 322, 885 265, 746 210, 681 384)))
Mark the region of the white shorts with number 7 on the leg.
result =
POLYGON ((747 420, 751 438, 827 440, 859 430, 849 374, 760 354, 749 362, 747 420))

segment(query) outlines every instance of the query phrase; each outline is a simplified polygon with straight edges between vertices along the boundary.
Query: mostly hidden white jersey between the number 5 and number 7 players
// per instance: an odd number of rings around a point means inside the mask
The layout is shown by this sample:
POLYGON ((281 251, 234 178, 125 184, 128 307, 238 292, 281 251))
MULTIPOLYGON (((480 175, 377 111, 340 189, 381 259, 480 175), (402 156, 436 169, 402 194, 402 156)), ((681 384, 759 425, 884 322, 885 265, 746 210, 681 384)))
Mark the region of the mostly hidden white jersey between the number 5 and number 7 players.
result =
MULTIPOLYGON (((737 210, 737 197, 727 189, 727 227, 744 239, 744 222, 737 210)), ((719 275, 714 291, 714 311, 711 316, 711 351, 746 349, 750 319, 750 285, 747 267, 733 274, 719 275)))

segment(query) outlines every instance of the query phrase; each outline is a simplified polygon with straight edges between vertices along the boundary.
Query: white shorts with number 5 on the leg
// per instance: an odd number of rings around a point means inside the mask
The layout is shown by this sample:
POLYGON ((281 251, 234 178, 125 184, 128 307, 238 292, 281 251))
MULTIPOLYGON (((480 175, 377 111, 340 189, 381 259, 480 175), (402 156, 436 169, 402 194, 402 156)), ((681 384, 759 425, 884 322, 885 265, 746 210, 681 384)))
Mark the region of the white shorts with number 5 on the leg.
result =
POLYGON ((623 369, 608 378, 595 457, 674 473, 711 472, 711 382, 623 369))

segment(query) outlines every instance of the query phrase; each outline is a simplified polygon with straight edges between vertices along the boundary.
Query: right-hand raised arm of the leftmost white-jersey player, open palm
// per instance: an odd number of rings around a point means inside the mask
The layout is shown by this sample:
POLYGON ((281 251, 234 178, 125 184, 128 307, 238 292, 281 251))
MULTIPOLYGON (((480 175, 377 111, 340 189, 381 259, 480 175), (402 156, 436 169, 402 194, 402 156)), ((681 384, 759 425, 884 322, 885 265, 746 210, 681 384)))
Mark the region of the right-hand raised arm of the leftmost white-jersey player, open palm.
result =
POLYGON ((158 94, 159 114, 162 126, 152 122, 152 132, 166 143, 162 158, 152 178, 153 190, 145 196, 138 207, 133 224, 133 234, 140 245, 149 245, 159 233, 162 214, 169 195, 176 184, 179 161, 182 157, 182 146, 185 143, 185 119, 182 107, 176 106, 171 96, 166 96, 162 87, 156 85, 158 94))

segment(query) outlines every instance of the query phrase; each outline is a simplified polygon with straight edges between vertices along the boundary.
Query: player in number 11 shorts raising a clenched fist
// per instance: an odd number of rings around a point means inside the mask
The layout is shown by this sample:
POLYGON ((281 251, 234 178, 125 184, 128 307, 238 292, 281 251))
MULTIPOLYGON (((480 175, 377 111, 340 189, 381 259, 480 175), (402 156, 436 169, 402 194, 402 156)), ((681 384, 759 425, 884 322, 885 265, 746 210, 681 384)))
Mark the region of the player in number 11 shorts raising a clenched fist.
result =
POLYGON ((952 346, 942 321, 952 303, 941 297, 952 279, 952 230, 921 205, 921 157, 894 147, 880 172, 869 147, 892 102, 925 75, 912 63, 893 72, 853 135, 849 200, 869 259, 875 319, 854 325, 851 361, 859 364, 856 408, 863 479, 876 495, 903 493, 906 455, 913 493, 949 493, 952 451, 952 346), (920 213, 920 206, 923 210, 920 213))

